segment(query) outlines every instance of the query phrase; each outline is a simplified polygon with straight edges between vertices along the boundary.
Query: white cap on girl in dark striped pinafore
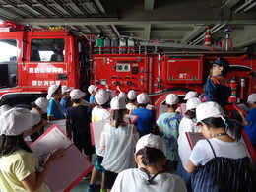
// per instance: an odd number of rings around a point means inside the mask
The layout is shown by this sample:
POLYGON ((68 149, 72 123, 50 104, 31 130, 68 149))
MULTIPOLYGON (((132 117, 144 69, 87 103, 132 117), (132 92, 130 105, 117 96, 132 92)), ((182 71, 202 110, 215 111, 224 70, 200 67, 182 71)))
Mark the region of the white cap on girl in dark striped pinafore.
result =
POLYGON ((224 115, 224 110, 220 104, 217 102, 203 102, 199 104, 196 108, 197 121, 200 122, 209 117, 222 117, 224 115))

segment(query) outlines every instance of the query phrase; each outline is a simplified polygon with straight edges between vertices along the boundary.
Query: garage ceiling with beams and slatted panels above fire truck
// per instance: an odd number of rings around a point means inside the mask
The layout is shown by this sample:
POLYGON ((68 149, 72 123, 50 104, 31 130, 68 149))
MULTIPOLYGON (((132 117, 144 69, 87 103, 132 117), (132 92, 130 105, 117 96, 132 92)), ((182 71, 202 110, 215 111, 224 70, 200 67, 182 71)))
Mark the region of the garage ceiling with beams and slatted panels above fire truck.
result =
POLYGON ((207 26, 220 45, 230 28, 233 47, 256 47, 256 0, 0 0, 0 19, 189 45, 204 43, 207 26))

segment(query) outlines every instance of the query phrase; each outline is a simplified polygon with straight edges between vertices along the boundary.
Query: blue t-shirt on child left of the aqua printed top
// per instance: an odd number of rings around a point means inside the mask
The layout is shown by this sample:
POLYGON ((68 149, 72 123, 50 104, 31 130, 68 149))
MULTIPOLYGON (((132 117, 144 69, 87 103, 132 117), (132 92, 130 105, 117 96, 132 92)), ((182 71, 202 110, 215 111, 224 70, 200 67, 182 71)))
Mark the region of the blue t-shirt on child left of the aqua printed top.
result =
POLYGON ((153 125, 156 123, 156 117, 153 110, 137 108, 133 111, 133 115, 138 116, 138 119, 135 122, 138 131, 152 130, 153 125))

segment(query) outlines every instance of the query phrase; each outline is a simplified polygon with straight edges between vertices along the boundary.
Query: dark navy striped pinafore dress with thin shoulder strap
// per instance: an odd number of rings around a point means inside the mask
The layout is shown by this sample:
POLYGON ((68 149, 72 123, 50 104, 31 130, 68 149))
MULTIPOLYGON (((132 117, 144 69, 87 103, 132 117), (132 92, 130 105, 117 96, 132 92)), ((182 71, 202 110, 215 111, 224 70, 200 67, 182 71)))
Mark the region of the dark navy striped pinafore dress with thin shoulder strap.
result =
MULTIPOLYGON (((208 141, 209 142, 209 141, 208 141)), ((255 175, 248 157, 230 159, 216 157, 200 165, 192 175, 192 191, 195 192, 252 192, 255 191, 255 175)))

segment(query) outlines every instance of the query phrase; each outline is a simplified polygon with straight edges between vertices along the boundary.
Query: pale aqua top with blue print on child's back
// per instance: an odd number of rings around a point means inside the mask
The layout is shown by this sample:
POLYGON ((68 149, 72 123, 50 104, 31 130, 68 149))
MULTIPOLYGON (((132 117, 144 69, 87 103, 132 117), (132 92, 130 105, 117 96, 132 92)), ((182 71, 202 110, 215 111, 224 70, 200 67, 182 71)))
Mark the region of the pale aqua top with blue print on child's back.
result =
POLYGON ((160 127, 160 134, 166 147, 167 159, 171 161, 178 160, 178 127, 181 115, 175 112, 162 113, 157 120, 160 127))

